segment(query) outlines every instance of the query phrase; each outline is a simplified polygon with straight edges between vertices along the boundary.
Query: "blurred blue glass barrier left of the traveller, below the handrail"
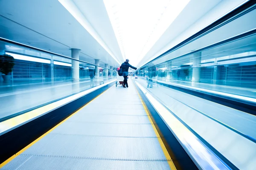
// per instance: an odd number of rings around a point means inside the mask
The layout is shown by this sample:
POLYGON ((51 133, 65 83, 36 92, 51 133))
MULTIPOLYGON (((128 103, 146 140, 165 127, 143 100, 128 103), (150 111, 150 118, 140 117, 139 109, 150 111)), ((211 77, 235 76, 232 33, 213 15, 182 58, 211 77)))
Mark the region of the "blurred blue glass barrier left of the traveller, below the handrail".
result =
POLYGON ((113 69, 100 65, 3 41, 0 47, 1 63, 6 54, 14 58, 9 71, 1 67, 0 121, 116 78, 113 69))

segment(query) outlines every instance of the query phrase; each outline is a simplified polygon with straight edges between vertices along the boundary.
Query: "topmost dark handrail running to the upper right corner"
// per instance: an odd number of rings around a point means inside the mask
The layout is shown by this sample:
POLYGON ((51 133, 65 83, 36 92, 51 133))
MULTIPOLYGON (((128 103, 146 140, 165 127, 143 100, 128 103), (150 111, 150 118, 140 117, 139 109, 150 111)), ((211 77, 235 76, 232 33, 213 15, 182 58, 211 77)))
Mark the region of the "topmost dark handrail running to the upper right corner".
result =
POLYGON ((219 18, 215 22, 211 23, 209 26, 207 26, 207 27, 203 28, 202 30, 198 31, 196 34, 190 36, 186 40, 184 40, 184 41, 180 42, 179 44, 175 45, 174 47, 172 47, 168 51, 164 52, 160 56, 158 56, 158 57, 152 59, 151 61, 147 62, 146 64, 144 64, 143 66, 141 66, 138 69, 142 70, 149 63, 154 62, 155 60, 162 58, 163 56, 171 53, 172 51, 175 51, 175 50, 189 44, 190 42, 193 42, 193 41, 197 40, 200 37, 203 37, 204 35, 216 30, 217 28, 220 28, 221 26, 226 25, 227 23, 230 23, 231 21, 235 20, 238 17, 241 17, 244 14, 247 14, 248 12, 252 11, 255 8, 256 8, 256 1, 255 0, 247 1, 246 3, 242 4, 238 8, 234 9, 233 11, 231 11, 228 14, 222 16, 221 18, 219 18))

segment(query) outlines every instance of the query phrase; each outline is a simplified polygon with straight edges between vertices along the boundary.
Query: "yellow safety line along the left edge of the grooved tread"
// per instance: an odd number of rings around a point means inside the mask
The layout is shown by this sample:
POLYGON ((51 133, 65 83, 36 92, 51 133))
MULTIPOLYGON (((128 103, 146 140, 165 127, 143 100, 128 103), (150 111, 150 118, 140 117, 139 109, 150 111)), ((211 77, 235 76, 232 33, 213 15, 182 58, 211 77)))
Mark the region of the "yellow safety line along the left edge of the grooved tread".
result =
MULTIPOLYGON (((105 90, 107 91, 107 90, 105 90)), ((95 100, 96 98, 98 98, 100 95, 102 95, 105 91, 103 91, 101 94, 99 94, 98 96, 96 96, 94 99, 92 99, 90 102, 93 102, 93 100, 95 100)), ((3 166, 5 166, 6 164, 8 164, 10 161, 12 161, 13 159, 15 159, 17 156, 19 156, 21 153, 23 153, 25 150, 27 150, 29 147, 31 147, 33 144, 35 144, 36 142, 38 142, 40 139, 42 139, 44 136, 46 136, 48 133, 50 133, 52 130, 54 130, 56 127, 58 127, 59 125, 61 125, 62 123, 66 122, 67 119, 69 119, 71 116, 73 116, 74 114, 76 114, 77 112, 81 111, 81 109, 83 109, 85 106, 89 105, 90 102, 88 102, 86 105, 82 106, 79 110, 77 110, 76 112, 72 113, 70 116, 68 116, 66 119, 64 119, 63 121, 61 121, 60 123, 58 123, 58 125, 55 125, 55 127, 52 127, 52 129, 50 129, 49 131, 47 131, 46 133, 44 133, 42 136, 40 136, 38 139, 35 139, 32 143, 30 143, 29 145, 27 145, 26 147, 24 147, 22 150, 20 150, 19 152, 15 153, 15 155, 11 156, 9 159, 7 159, 6 161, 4 161, 2 164, 0 164, 0 168, 2 168, 3 166)))

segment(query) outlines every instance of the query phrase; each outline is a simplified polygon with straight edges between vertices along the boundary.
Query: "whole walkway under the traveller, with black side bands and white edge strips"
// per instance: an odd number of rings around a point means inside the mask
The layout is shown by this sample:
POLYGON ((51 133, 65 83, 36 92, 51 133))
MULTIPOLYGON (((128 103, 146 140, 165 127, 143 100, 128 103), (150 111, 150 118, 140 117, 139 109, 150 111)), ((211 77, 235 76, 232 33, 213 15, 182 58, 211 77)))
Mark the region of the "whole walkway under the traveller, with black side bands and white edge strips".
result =
POLYGON ((20 125, 15 117, 0 122, 0 167, 236 169, 137 81, 129 84, 96 86, 44 108, 45 114, 30 113, 20 125))

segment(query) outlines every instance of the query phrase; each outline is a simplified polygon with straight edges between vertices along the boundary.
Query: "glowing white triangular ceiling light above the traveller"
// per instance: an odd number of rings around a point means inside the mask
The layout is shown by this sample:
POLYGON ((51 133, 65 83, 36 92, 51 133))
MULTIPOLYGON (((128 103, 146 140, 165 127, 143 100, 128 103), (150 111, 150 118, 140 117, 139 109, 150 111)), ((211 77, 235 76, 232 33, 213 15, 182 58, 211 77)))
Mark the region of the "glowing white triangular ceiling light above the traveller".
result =
POLYGON ((123 59, 137 65, 190 0, 104 0, 123 59))

